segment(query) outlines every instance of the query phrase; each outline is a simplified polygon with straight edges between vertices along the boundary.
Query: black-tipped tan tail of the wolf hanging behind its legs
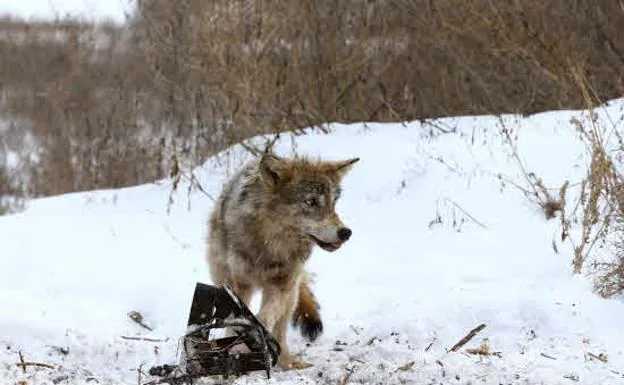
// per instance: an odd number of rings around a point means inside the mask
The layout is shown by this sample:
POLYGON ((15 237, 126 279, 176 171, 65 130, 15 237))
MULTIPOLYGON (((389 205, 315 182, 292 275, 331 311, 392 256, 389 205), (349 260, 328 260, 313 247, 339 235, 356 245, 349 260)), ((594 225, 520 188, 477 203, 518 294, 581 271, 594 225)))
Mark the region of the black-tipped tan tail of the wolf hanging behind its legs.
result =
POLYGON ((314 341, 323 333, 319 304, 310 289, 311 277, 305 273, 299 284, 299 300, 292 316, 292 324, 299 327, 301 335, 314 341))

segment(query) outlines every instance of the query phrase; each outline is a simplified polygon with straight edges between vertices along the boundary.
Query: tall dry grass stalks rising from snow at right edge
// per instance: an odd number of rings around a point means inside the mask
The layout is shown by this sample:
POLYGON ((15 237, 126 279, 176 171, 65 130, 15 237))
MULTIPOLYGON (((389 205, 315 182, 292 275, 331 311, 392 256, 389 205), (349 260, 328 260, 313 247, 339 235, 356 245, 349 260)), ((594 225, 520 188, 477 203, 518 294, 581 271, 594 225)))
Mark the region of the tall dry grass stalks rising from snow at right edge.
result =
MULTIPOLYGON (((584 116, 573 118, 571 123, 587 151, 587 173, 577 183, 566 181, 560 188, 548 188, 535 174, 524 169, 512 147, 524 182, 529 186, 528 189, 517 187, 543 209, 547 219, 559 217, 560 241, 569 242, 574 251, 571 261, 574 274, 591 275, 596 292, 613 297, 624 293, 624 175, 621 172, 624 137, 621 124, 598 120, 596 110, 601 101, 583 71, 573 67, 571 73, 585 103, 584 116), (572 194, 575 201, 567 202, 572 189, 578 189, 572 194), (570 236, 576 225, 580 228, 578 239, 570 236)), ((503 130, 502 134, 513 146, 507 131, 503 130)), ((553 247, 557 251, 554 242, 553 247)))

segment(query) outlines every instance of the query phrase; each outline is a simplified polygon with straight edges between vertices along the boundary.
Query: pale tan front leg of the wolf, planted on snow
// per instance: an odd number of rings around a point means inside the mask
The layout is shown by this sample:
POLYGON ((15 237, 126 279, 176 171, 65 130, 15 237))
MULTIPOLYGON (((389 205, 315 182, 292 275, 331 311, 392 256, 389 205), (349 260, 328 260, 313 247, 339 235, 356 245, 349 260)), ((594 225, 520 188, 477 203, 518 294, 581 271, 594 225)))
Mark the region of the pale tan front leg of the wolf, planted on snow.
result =
POLYGON ((293 282, 268 284, 262 291, 262 303, 258 318, 280 344, 281 353, 277 365, 285 370, 304 369, 312 366, 297 360, 286 343, 288 324, 297 305, 299 280, 293 282))

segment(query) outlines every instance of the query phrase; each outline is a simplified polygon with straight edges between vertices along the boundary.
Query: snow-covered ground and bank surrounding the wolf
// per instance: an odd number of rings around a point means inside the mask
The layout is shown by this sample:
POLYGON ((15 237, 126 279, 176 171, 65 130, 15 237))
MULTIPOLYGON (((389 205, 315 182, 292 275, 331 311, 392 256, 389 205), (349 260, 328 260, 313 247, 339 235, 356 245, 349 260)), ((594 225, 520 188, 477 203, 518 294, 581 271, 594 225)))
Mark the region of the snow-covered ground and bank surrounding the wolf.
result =
MULTIPOLYGON (((611 102, 600 122, 623 107, 624 100, 611 102)), ((499 134, 502 126, 512 130, 524 167, 559 187, 580 180, 588 164, 570 122, 580 116, 333 124, 331 134, 297 137, 299 154, 361 158, 337 208, 353 236, 335 253, 315 250, 308 265, 325 331, 307 345, 291 329, 289 341, 314 366, 233 383, 624 383, 624 303, 598 297, 588 277, 572 274, 573 251, 558 240, 558 220, 547 221, 508 183, 525 185, 499 134), (481 323, 473 340, 449 351, 481 323), (465 353, 483 338, 500 356, 465 353)), ((276 152, 292 154, 288 135, 276 152)), ((175 362, 195 283, 210 283, 211 197, 246 159, 235 146, 195 169, 207 194, 189 194, 181 183, 169 212, 165 180, 34 200, 1 217, 4 383, 136 384, 137 368, 175 362), (130 320, 133 310, 153 331, 130 320), (56 369, 24 372, 18 352, 56 369)), ((579 236, 578 226, 571 235, 579 236)))

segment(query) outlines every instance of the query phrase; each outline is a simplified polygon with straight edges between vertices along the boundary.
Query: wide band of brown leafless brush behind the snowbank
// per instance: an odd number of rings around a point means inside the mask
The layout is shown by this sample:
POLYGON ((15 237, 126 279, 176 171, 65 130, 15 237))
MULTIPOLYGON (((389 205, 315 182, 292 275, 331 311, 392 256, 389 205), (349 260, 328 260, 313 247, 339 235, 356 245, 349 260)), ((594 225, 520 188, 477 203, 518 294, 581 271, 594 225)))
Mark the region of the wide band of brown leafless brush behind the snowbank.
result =
POLYGON ((28 194, 165 177, 327 122, 580 108, 621 95, 618 2, 142 0, 125 26, 0 20, 0 115, 28 194), (16 141, 23 140, 18 138, 16 141))

